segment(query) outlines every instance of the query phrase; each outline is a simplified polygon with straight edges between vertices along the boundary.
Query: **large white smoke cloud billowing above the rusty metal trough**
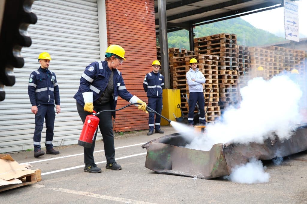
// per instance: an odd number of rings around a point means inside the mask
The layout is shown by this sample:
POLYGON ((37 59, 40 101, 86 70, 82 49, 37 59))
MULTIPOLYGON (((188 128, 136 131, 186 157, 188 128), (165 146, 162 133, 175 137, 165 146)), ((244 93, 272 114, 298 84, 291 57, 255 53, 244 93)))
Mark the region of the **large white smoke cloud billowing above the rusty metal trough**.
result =
POLYGON ((289 139, 301 122, 298 104, 302 91, 288 76, 268 81, 254 78, 240 93, 239 108, 227 109, 223 122, 208 124, 206 134, 185 147, 208 151, 217 143, 263 143, 273 132, 280 140, 289 139))

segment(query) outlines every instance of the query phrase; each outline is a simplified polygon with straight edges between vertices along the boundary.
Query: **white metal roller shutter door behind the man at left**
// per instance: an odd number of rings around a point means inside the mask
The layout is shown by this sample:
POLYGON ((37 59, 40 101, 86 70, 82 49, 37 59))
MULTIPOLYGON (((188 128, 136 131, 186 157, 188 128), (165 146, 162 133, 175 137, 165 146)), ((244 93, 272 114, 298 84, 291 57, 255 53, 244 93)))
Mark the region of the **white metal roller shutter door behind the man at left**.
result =
MULTIPOLYGON (((83 124, 73 95, 84 68, 100 59, 97 0, 40 0, 32 9, 38 18, 28 28, 32 45, 22 48, 25 65, 14 69, 16 83, 5 87, 6 99, 0 102, 1 153, 33 148, 35 124, 28 81, 40 66, 37 57, 41 52, 51 55, 49 69, 56 73, 60 88, 61 113, 56 114, 54 146, 77 143, 83 124)), ((45 131, 44 124, 42 147, 45 131)))

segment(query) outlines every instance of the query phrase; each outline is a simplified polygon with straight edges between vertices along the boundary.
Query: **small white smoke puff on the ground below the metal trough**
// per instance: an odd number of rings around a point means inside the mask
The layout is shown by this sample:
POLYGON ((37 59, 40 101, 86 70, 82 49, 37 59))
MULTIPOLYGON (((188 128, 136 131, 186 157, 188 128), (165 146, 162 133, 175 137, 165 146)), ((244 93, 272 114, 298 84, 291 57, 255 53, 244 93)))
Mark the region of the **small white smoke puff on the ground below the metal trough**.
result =
POLYGON ((269 182, 270 174, 265 172, 260 160, 252 158, 248 163, 235 166, 229 176, 224 179, 241 184, 256 184, 269 182))

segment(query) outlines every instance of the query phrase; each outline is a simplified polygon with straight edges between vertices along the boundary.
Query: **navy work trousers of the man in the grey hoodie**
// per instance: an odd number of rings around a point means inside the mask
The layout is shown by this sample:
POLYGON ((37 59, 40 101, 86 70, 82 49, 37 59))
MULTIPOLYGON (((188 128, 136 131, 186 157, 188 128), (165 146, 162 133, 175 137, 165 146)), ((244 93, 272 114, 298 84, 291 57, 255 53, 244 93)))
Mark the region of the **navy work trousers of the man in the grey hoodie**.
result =
POLYGON ((189 95, 189 113, 188 113, 188 122, 189 125, 194 123, 194 110, 196 103, 198 102, 198 109, 199 109, 199 122, 200 124, 206 124, 205 119, 205 99, 204 99, 204 92, 190 92, 189 95))

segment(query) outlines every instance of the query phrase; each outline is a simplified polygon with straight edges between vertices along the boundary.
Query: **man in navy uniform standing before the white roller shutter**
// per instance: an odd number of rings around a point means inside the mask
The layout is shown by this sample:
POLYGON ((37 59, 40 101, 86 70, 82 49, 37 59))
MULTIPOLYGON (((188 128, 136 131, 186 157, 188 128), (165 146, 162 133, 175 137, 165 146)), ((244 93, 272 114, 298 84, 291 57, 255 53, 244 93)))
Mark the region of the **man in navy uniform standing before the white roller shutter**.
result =
POLYGON ((50 71, 49 63, 51 57, 47 52, 43 52, 38 56, 40 68, 30 74, 28 84, 28 94, 32 104, 31 111, 35 114, 35 130, 33 136, 34 157, 45 154, 41 150, 41 131, 46 121, 46 153, 60 154, 59 151, 53 149, 53 128, 54 128, 54 103, 56 104, 56 113, 60 113, 60 92, 56 81, 56 75, 50 71))

